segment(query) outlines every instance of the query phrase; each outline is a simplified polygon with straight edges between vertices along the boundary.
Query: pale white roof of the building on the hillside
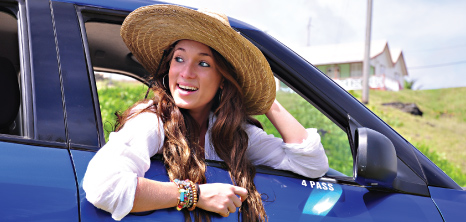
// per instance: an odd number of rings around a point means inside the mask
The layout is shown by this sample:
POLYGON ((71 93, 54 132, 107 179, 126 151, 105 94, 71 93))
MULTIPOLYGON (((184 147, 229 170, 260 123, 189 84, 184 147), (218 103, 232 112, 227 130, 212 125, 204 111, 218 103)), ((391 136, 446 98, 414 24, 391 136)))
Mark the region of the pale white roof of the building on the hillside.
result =
MULTIPOLYGON (((388 48, 386 40, 372 41, 370 57, 374 58, 380 55, 386 47, 388 48)), ((364 50, 364 42, 355 42, 302 47, 298 48, 296 52, 313 65, 325 65, 362 62, 364 60, 364 50)), ((396 53, 390 52, 390 54, 392 62, 395 63, 401 54, 401 50, 396 53)))

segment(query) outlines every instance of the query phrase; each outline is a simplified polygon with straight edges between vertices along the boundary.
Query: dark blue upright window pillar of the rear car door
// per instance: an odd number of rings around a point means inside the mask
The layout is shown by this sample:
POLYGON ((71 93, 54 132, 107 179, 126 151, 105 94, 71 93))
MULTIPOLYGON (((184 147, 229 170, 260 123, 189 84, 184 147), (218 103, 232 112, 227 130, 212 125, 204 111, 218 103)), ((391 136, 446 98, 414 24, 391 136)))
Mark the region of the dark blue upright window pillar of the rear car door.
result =
POLYGON ((66 142, 57 47, 48 0, 27 1, 34 138, 66 142))

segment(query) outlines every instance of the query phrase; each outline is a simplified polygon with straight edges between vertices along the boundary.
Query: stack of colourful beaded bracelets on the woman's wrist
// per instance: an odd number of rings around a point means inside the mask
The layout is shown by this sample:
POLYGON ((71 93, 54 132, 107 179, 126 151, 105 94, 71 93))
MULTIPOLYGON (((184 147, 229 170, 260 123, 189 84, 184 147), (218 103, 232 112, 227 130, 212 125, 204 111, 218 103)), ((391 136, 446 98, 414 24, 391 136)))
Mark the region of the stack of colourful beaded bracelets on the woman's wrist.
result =
POLYGON ((176 184, 178 192, 180 193, 176 209, 181 210, 183 208, 188 208, 189 211, 194 210, 196 208, 197 201, 199 200, 199 186, 188 179, 175 179, 173 180, 173 183, 176 184))

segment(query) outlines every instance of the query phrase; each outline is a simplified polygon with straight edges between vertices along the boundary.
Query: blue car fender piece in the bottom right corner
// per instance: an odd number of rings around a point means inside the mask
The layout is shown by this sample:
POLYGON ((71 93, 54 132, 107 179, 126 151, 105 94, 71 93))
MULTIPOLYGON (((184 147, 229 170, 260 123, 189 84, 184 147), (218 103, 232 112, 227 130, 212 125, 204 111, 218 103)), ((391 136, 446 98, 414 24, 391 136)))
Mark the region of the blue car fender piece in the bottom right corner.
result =
POLYGON ((466 191, 429 187, 445 221, 466 221, 466 191))

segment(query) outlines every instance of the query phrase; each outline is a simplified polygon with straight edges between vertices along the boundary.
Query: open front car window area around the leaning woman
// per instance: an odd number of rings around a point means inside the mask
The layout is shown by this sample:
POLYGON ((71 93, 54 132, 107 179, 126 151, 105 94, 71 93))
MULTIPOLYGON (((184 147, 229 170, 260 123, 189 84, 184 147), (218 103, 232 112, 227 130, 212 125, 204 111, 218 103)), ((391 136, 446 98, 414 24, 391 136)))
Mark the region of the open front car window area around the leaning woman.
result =
MULTIPOLYGON (((144 98, 147 86, 143 77, 147 73, 141 71, 144 69, 133 59, 121 40, 119 35, 121 23, 101 20, 94 21, 88 18, 85 27, 99 96, 103 131, 105 140, 108 141, 109 133, 115 128, 115 112, 123 112, 134 102, 144 98)), ((353 159, 347 134, 284 83, 279 82, 278 86, 277 100, 304 127, 316 128, 319 132, 330 167, 344 175, 352 176, 353 159)), ((280 137, 264 115, 256 118, 262 122, 267 133, 280 137)))

